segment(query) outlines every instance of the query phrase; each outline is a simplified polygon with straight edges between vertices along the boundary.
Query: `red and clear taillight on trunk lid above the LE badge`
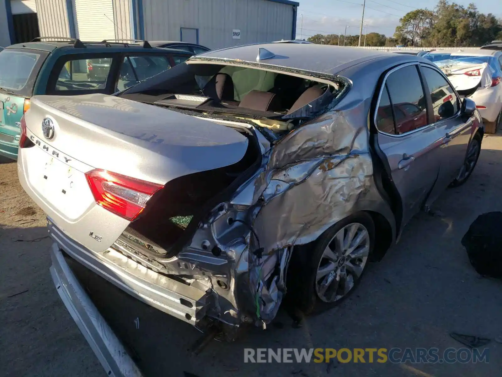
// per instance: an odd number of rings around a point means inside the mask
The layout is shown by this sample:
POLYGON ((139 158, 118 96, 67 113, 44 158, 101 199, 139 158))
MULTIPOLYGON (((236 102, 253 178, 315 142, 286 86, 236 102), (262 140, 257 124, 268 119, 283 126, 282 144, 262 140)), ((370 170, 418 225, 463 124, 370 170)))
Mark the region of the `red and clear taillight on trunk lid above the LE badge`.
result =
POLYGON ((96 203, 130 221, 138 217, 148 200, 164 187, 102 169, 88 171, 85 176, 96 203))

